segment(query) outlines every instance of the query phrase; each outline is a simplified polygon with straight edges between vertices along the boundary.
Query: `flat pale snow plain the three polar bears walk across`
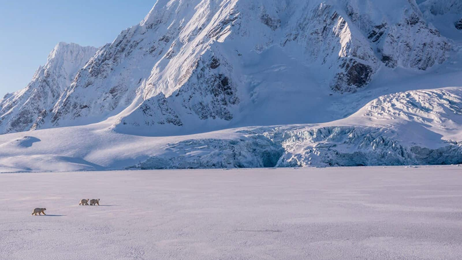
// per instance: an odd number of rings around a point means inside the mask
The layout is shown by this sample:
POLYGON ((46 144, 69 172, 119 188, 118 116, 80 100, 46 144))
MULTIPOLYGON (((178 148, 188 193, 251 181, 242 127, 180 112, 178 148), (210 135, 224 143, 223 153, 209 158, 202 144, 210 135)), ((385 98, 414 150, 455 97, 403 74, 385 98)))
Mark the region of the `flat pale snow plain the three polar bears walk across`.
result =
POLYGON ((1 173, 0 183, 1 259, 462 259, 458 166, 1 173), (48 215, 30 216, 35 207, 48 215))

